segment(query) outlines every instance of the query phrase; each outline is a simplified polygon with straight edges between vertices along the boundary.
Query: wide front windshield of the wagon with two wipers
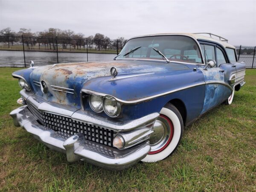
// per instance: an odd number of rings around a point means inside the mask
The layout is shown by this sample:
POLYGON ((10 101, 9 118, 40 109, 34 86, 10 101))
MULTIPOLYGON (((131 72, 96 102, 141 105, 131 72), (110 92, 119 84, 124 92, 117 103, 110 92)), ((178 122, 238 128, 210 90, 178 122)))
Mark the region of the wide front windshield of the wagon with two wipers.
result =
POLYGON ((200 49, 196 42, 192 38, 179 35, 151 36, 131 39, 125 44, 125 47, 116 59, 134 58, 166 61, 166 59, 157 53, 153 47, 163 53, 163 55, 170 61, 196 64, 202 63, 200 49), (137 47, 140 48, 130 54, 125 54, 129 52, 129 50, 137 47))

